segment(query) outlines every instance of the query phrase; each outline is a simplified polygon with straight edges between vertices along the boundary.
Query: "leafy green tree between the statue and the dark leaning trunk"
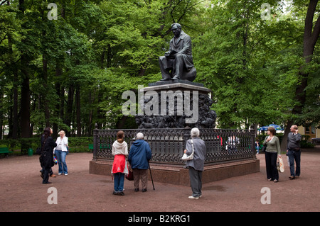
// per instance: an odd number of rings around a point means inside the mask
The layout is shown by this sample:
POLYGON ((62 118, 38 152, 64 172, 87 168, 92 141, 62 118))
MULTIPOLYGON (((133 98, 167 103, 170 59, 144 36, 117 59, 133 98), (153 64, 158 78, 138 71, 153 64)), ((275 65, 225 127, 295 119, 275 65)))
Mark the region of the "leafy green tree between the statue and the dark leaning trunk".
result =
MULTIPOLYGON (((200 18, 205 29, 194 42, 197 81, 213 90, 220 128, 248 128, 282 117, 277 105, 284 101, 277 93, 279 75, 267 66, 279 52, 277 33, 285 25, 275 26, 272 17, 262 20, 263 3, 212 1, 200 18)), ((277 1, 270 4, 272 13, 281 6, 277 1)))

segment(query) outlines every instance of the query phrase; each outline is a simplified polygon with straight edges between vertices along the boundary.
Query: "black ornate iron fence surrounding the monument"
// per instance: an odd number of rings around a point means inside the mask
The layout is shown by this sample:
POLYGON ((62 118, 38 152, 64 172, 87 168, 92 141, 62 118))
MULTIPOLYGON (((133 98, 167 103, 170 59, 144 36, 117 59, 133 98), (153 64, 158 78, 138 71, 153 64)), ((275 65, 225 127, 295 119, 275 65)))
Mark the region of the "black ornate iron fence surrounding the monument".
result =
MULTIPOLYGON (((205 164, 255 158, 255 130, 199 129, 206 142, 205 164)), ((113 159, 112 144, 119 130, 93 130, 93 159, 113 159)), ((157 164, 184 164, 181 157, 191 129, 135 129, 123 130, 128 151, 138 132, 144 134, 152 151, 150 162, 157 164)))

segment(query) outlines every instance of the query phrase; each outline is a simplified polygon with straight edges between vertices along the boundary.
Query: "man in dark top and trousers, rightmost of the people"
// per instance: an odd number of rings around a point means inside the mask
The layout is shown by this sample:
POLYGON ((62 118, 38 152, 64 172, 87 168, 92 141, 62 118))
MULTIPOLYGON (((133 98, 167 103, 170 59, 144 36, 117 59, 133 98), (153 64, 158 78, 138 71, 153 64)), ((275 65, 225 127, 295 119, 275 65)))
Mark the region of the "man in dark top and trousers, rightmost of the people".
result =
POLYGON ((300 140, 302 135, 298 133, 298 126, 292 125, 287 140, 287 154, 290 164, 289 179, 298 179, 300 176, 301 149, 300 140), (296 171, 294 172, 294 161, 296 162, 296 171))

